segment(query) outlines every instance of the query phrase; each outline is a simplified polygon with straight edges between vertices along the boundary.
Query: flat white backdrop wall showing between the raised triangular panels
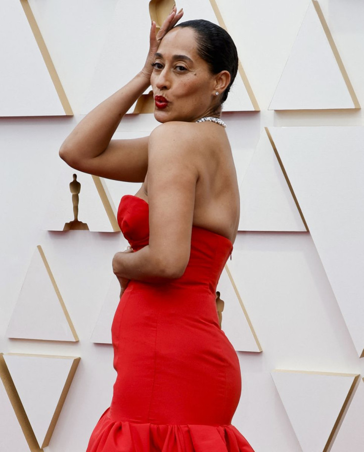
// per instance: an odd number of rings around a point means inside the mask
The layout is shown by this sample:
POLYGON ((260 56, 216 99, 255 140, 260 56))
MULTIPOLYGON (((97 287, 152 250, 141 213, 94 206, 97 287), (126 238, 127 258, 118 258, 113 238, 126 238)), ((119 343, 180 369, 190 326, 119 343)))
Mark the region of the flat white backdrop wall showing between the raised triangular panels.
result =
MULTIPOLYGON (((125 248, 125 240, 120 233, 112 232, 49 232, 44 230, 44 218, 64 165, 58 149, 85 113, 85 99, 117 2, 30 0, 74 117, 0 118, 0 352, 81 357, 46 448, 49 452, 86 450, 93 426, 109 406, 116 377, 112 347, 93 344, 91 334, 113 277, 112 256, 125 248), (6 338, 7 325, 38 244, 44 249, 79 342, 6 338)), ((223 115, 239 181, 244 179, 265 127, 364 126, 361 110, 268 110, 308 0, 217 3, 261 108, 259 113, 223 115)), ((133 4, 125 2, 126 15, 133 4)), ((364 3, 321 0, 320 6, 363 105, 364 3)), ((131 59, 135 58, 133 40, 147 39, 148 30, 141 34, 138 30, 138 35, 130 38, 131 59)), ((140 67, 143 61, 141 58, 140 67)), ((128 71, 128 60, 125 64, 128 71)), ((3 71, 0 76, 11 77, 3 71)), ((150 116, 130 116, 118 133, 140 134, 153 126, 150 116)), ((343 178, 349 181, 351 173, 343 173, 343 178)), ((113 193, 117 190, 113 185, 113 193)), ((124 190, 120 187, 120 193, 124 190)), ((131 187, 131 192, 135 191, 131 187)), ((256 452, 300 452, 299 435, 290 423, 271 372, 288 369, 363 376, 364 361, 358 357, 309 232, 269 231, 269 227, 267 231, 239 231, 229 268, 263 349, 260 354, 238 352, 243 389, 233 424, 256 452)), ((355 391, 353 400, 362 389, 355 391)), ((333 442, 333 452, 343 452, 342 444, 346 445, 345 451, 361 450, 363 436, 357 427, 358 419, 364 419, 363 405, 360 408, 356 404, 355 415, 350 414, 349 405, 337 441, 333 442)), ((9 429, 7 418, 0 420, 0 451, 18 452, 14 444, 18 444, 19 432, 9 429)))

